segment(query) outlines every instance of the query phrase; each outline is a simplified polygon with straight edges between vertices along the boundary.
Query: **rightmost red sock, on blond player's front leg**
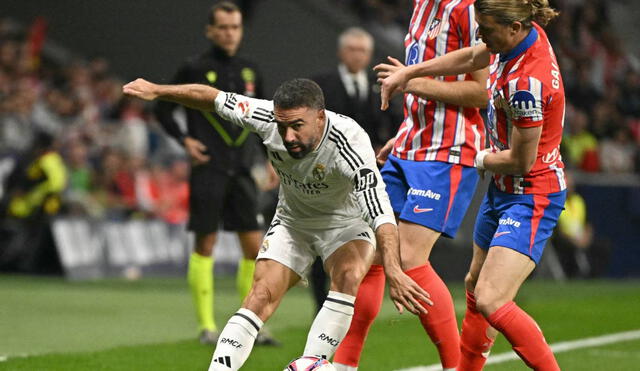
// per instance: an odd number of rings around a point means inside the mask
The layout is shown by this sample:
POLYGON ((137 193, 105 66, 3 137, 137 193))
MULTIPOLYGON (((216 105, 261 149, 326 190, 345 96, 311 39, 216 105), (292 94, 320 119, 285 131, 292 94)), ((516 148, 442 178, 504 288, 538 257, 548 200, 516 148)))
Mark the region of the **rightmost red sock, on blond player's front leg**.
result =
POLYGON ((560 371, 540 327, 516 303, 506 303, 487 320, 509 340, 513 350, 527 366, 540 371, 560 371))

